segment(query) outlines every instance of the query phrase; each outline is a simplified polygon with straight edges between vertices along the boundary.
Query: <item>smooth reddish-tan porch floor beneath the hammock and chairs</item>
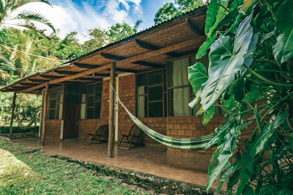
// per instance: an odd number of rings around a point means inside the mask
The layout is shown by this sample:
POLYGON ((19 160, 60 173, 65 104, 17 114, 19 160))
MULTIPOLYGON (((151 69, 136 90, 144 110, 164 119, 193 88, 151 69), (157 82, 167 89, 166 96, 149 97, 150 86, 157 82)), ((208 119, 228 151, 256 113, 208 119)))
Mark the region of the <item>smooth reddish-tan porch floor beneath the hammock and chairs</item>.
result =
MULTIPOLYGON (((41 148, 47 155, 59 155, 78 158, 104 165, 115 166, 138 172, 144 172, 159 177, 174 179, 191 184, 207 186, 208 167, 210 159, 196 159, 167 155, 165 148, 131 147, 130 150, 117 149, 114 145, 113 158, 108 158, 108 143, 94 141, 90 146, 82 145, 83 140, 45 140, 45 145, 39 145, 38 138, 17 139, 16 142, 30 150, 41 148)), ((219 179, 213 184, 216 189, 219 179)), ((205 187, 203 187, 205 188, 205 187)), ((226 183, 222 190, 226 190, 226 183)))

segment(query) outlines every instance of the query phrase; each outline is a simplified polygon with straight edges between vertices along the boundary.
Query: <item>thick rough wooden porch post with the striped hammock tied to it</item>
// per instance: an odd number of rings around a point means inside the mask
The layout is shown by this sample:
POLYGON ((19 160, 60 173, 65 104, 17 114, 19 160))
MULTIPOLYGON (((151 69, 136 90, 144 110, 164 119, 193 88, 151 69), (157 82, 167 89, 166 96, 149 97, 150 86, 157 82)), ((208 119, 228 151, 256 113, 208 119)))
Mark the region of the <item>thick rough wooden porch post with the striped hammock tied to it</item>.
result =
MULTIPOLYGON (((110 71, 110 84, 113 85, 115 89, 115 69, 116 64, 115 62, 112 63, 111 71, 110 71)), ((109 91, 109 138, 108 138, 108 158, 113 158, 113 146, 114 146, 114 134, 115 134, 115 128, 114 128, 114 91, 112 89, 112 86, 110 85, 110 91, 109 91)))

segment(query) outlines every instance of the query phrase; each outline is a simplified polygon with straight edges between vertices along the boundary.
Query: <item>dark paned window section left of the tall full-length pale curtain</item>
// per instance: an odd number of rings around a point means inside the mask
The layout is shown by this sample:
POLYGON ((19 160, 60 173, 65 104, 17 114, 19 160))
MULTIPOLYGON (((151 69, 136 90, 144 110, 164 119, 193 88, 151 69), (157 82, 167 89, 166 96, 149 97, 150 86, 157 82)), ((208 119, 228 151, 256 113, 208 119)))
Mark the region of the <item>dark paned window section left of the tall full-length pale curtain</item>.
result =
POLYGON ((136 116, 163 117, 166 109, 166 70, 136 75, 136 116))

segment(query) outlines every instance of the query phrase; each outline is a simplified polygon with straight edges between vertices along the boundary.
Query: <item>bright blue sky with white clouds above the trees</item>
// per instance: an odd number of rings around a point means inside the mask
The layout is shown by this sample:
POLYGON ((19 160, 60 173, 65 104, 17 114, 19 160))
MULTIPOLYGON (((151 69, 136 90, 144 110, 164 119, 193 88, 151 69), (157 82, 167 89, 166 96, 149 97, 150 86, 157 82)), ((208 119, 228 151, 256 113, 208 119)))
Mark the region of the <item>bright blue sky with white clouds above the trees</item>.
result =
MULTIPOLYGON (((125 21, 134 26, 142 19, 139 31, 154 25, 154 17, 160 7, 174 0, 48 0, 50 7, 44 3, 30 3, 23 9, 37 11, 45 15, 59 29, 58 36, 64 38, 67 33, 77 31, 80 42, 84 42, 87 29, 107 28, 115 23, 125 21)), ((47 34, 52 33, 47 26, 47 34)))

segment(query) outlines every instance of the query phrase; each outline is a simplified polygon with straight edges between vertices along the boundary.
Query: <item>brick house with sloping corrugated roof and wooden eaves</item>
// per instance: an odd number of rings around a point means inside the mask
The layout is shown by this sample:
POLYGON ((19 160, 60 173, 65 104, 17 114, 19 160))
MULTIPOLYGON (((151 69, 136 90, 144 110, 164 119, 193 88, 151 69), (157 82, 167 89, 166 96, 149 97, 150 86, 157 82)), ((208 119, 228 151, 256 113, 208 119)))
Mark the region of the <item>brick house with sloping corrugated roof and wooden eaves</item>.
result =
MULTIPOLYGON (((204 127, 202 117, 195 116, 199 107, 188 107, 194 93, 187 67, 197 61, 208 66, 207 56, 195 59, 206 40, 205 18, 206 9, 198 8, 0 90, 43 94, 45 136, 81 138, 109 123, 109 79, 115 76, 115 90, 121 101, 153 130, 176 138, 212 134, 225 122, 222 111, 217 110, 204 127), (113 64, 115 75, 110 74, 113 64)), ((117 141, 129 132, 132 121, 117 104, 114 118, 117 141)), ((147 135, 144 141, 146 146, 166 147, 147 135)), ((212 152, 167 148, 168 155, 199 157, 212 152)))

